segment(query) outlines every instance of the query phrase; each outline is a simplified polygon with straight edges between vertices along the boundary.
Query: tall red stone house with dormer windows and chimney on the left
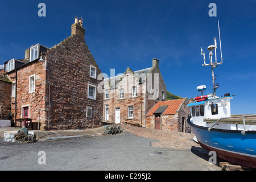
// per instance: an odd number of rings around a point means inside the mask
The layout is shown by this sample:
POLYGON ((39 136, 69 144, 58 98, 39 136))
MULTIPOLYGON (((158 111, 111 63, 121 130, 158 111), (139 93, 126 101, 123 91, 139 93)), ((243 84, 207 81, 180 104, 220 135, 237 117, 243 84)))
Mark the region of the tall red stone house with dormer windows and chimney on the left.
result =
POLYGON ((102 125, 102 80, 85 43, 85 29, 75 19, 71 36, 52 48, 36 44, 22 60, 5 63, 5 75, 13 82, 11 111, 16 118, 32 118, 40 129, 88 129, 102 125), (15 97, 16 93, 16 97, 15 97))

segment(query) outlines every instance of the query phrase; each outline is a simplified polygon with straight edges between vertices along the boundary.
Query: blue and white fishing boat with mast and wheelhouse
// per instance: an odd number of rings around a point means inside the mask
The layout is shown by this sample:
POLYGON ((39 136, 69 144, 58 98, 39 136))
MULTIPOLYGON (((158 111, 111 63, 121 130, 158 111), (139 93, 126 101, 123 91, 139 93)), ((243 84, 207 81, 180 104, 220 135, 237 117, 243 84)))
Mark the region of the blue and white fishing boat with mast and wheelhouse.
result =
MULTIPOLYGON (((219 22, 218 33, 220 38, 219 22)), ((215 83, 216 75, 213 69, 223 63, 221 39, 219 63, 216 49, 217 41, 214 38, 214 45, 208 47, 210 63, 207 64, 205 53, 201 48, 203 66, 209 65, 212 68, 213 93, 204 95, 206 86, 197 86, 201 96, 195 97, 195 101, 187 105, 191 109, 191 118, 188 119, 188 123, 195 134, 194 139, 205 150, 215 151, 219 158, 229 162, 256 168, 256 114, 231 115, 230 100, 234 99, 234 96, 230 93, 220 97, 216 95, 218 84, 215 83), (213 52, 215 61, 213 61, 213 52)))

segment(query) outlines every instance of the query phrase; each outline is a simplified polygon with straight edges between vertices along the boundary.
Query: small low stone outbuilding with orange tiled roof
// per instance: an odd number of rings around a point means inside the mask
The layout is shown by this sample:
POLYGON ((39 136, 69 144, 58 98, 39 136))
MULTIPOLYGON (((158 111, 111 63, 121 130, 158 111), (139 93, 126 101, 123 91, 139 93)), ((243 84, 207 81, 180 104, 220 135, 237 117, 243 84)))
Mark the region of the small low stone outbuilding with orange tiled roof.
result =
POLYGON ((146 116, 146 127, 158 130, 176 130, 191 133, 187 123, 190 115, 188 98, 156 103, 146 116))

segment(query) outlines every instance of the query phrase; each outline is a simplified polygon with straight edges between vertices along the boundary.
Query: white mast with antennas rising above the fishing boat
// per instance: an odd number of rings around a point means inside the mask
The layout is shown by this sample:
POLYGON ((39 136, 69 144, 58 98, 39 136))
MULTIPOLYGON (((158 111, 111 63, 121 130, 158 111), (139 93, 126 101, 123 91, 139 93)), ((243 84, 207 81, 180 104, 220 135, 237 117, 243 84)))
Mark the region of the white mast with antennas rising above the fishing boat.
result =
MULTIPOLYGON (((220 38, 220 23, 218 22, 218 35, 220 38)), ((204 56, 204 64, 202 66, 208 66, 210 65, 210 67, 212 67, 212 84, 213 84, 213 96, 216 96, 216 89, 218 88, 218 84, 215 84, 215 80, 216 80, 216 75, 214 75, 214 71, 213 69, 217 67, 217 65, 222 64, 222 51, 221 51, 221 38, 220 38, 220 52, 221 52, 221 62, 217 63, 217 53, 216 53, 216 49, 217 49, 217 40, 216 38, 214 38, 214 46, 210 45, 208 48, 209 51, 209 59, 210 59, 210 63, 206 64, 205 63, 205 53, 203 52, 203 49, 201 48, 201 55, 204 56), (213 62, 213 50, 215 51, 215 62, 213 62)))

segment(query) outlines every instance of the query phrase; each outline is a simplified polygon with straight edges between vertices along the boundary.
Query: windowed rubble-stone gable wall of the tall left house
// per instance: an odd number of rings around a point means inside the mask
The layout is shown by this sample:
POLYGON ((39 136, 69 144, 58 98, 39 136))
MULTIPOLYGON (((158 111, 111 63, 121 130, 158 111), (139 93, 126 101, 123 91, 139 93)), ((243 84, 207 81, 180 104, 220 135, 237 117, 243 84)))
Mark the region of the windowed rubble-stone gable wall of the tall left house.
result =
MULTIPOLYGON (((47 84, 50 86, 50 129, 88 129, 102 125, 103 94, 96 92, 96 100, 88 98, 88 83, 102 82, 89 76, 90 65, 101 73, 85 41, 72 35, 47 51, 47 84), (92 118, 86 108, 92 107, 92 118)), ((49 92, 48 87, 46 92, 49 92)))

